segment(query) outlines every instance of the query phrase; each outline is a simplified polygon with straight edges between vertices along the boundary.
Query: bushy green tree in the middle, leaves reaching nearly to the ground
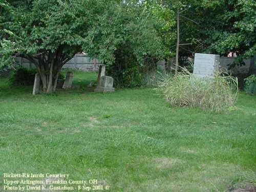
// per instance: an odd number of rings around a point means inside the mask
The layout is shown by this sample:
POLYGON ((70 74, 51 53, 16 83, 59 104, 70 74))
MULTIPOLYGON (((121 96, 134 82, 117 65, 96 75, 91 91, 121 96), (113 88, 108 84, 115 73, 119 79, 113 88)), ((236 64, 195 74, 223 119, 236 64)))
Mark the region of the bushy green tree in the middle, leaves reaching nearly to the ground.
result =
POLYGON ((150 57, 157 61, 168 52, 163 33, 158 30, 167 25, 166 20, 159 20, 154 8, 136 1, 100 6, 108 11, 95 18, 83 50, 105 63, 116 87, 139 86, 142 68, 155 65, 146 60, 150 57))

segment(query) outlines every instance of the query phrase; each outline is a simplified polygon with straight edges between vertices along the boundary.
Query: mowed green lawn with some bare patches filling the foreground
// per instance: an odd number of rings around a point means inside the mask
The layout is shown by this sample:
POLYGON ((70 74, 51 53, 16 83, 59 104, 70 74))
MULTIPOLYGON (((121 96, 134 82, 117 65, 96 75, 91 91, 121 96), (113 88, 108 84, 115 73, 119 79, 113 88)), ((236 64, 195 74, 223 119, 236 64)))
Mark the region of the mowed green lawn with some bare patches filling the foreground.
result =
POLYGON ((1 177, 70 174, 109 191, 225 191, 255 179, 256 96, 203 112, 172 108, 151 88, 94 93, 96 78, 76 72, 80 88, 36 96, 0 78, 1 177))

